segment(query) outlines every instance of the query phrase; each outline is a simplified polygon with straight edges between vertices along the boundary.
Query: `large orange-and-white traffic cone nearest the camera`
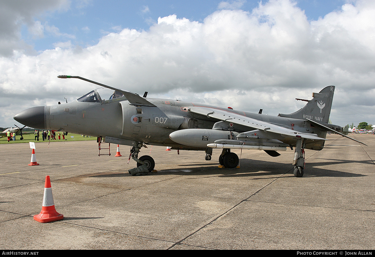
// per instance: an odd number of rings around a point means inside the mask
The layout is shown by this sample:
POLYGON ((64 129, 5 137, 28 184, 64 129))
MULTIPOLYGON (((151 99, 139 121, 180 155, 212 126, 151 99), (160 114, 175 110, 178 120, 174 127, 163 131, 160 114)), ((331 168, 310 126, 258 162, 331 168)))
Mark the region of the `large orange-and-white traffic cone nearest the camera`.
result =
POLYGON ((38 215, 34 215, 34 220, 41 223, 48 223, 52 221, 62 220, 64 215, 58 213, 53 202, 51 181, 49 176, 46 176, 44 184, 44 196, 42 203, 42 211, 38 215))

